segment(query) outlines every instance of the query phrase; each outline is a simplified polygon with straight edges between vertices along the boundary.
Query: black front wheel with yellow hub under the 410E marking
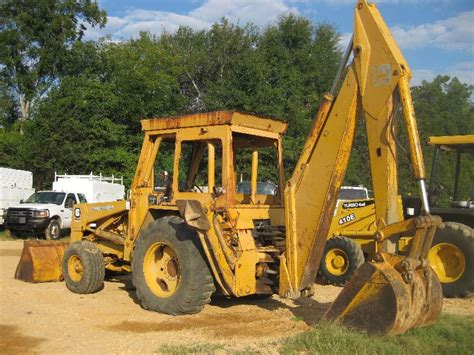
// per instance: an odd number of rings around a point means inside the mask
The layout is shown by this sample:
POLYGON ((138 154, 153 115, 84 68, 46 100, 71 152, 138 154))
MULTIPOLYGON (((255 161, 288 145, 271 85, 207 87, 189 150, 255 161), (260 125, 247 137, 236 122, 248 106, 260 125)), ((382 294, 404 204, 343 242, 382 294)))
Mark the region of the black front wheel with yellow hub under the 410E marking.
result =
POLYGON ((328 284, 344 286, 364 261, 364 253, 355 241, 333 237, 324 247, 319 275, 328 284))

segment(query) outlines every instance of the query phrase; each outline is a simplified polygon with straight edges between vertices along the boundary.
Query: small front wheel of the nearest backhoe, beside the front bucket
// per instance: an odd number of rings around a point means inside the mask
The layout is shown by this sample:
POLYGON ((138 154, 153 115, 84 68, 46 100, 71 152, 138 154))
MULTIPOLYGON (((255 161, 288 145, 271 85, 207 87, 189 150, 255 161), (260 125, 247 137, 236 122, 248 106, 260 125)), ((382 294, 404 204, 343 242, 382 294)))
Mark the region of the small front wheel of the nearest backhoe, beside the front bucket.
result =
POLYGON ((104 258, 97 246, 89 241, 74 242, 63 258, 66 287, 74 293, 94 293, 104 284, 104 258))

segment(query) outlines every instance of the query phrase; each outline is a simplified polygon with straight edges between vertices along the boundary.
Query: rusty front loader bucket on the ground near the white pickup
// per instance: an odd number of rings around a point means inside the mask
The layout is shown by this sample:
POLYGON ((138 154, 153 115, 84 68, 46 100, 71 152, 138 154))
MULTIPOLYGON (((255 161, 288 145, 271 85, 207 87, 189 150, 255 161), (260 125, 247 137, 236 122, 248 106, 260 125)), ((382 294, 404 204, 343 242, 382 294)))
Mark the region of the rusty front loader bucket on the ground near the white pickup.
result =
POLYGON ((61 281, 62 261, 68 242, 25 240, 15 279, 26 282, 61 281))

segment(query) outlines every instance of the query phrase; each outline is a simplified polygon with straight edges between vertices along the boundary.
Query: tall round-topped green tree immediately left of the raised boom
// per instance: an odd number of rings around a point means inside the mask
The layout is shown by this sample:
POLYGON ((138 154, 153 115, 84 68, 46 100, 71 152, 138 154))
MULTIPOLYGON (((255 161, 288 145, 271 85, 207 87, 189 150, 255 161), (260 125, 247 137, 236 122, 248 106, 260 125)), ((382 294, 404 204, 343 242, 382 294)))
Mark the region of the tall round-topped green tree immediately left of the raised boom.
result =
POLYGON ((268 69, 259 112, 289 123, 285 171, 291 174, 341 58, 339 36, 330 25, 313 25, 293 14, 269 26, 259 41, 268 69))

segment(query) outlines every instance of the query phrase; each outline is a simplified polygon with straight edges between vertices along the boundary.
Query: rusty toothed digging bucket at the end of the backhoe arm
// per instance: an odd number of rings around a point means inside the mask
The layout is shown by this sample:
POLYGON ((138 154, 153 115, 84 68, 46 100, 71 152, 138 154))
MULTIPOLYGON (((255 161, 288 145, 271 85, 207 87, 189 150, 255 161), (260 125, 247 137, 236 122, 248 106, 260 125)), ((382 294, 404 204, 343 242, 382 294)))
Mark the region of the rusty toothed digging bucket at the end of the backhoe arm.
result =
POLYGON ((442 306, 442 290, 429 266, 405 282, 399 268, 403 257, 365 263, 332 304, 326 318, 368 333, 398 334, 433 323, 442 306))

